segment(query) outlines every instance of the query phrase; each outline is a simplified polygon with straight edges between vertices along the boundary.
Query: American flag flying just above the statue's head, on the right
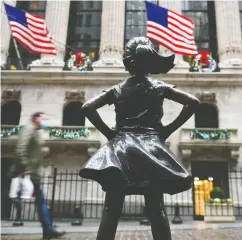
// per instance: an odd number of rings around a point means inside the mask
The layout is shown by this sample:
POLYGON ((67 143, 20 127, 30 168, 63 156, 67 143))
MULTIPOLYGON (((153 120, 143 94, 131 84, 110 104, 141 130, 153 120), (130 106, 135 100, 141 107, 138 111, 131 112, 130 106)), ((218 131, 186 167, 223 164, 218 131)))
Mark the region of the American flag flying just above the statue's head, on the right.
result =
POLYGON ((146 3, 147 37, 174 53, 197 55, 191 19, 167 8, 146 3))

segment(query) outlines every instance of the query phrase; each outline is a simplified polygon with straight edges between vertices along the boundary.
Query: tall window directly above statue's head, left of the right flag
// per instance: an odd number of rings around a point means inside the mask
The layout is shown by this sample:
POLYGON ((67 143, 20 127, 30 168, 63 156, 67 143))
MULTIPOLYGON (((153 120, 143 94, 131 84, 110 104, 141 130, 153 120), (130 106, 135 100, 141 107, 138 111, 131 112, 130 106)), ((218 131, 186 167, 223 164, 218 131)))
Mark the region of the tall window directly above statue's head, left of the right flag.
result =
MULTIPOLYGON (((158 4, 159 1, 150 1, 158 4)), ((146 8, 144 1, 126 1, 125 6, 125 34, 124 44, 126 44, 133 37, 146 36, 146 8)), ((159 48, 159 44, 153 42, 156 50, 159 48)))

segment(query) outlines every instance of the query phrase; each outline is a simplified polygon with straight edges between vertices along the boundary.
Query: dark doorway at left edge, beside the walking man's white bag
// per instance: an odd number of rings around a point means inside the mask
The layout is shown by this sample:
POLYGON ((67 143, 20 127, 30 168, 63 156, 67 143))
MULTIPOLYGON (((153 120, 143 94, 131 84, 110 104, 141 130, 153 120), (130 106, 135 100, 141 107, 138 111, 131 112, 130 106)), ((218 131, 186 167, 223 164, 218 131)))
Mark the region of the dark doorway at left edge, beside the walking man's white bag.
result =
POLYGON ((11 178, 9 168, 12 164, 11 158, 1 159, 1 219, 8 220, 11 213, 12 201, 9 198, 11 178))

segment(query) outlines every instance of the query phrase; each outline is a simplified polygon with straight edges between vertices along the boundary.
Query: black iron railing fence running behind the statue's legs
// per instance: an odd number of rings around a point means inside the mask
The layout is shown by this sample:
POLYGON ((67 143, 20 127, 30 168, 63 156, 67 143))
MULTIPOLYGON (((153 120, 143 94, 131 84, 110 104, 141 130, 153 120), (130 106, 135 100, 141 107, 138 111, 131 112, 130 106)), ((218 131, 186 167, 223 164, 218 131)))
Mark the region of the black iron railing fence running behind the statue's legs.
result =
MULTIPOLYGON (((220 221, 223 217, 227 221, 234 221, 241 217, 242 170, 229 172, 228 176, 226 191, 213 186, 211 179, 194 178, 193 187, 189 191, 172 196, 165 194, 168 216, 174 217, 175 207, 179 205, 181 217, 201 217, 205 221, 213 221, 216 217, 220 221), (217 192, 214 189, 217 189, 217 192)), ((101 218, 105 193, 98 183, 80 178, 78 171, 63 173, 54 169, 51 176, 43 176, 42 185, 53 218, 73 221, 77 218, 77 209, 79 216, 84 219, 101 218)), ((16 210, 12 207, 11 220, 15 219, 15 215, 16 210)), ((140 220, 143 216, 143 196, 126 196, 122 218, 140 220)), ((34 198, 24 202, 22 219, 38 219, 34 198)))

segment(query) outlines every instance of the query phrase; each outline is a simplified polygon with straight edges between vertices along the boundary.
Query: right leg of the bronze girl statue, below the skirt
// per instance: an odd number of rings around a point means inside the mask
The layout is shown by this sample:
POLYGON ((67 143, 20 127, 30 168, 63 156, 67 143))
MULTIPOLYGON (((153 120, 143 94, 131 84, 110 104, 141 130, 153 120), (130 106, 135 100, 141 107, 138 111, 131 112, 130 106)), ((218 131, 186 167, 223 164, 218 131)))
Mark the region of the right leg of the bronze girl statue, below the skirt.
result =
POLYGON ((171 240, 171 230, 167 218, 163 194, 151 191, 145 195, 145 207, 151 222, 154 240, 171 240))

